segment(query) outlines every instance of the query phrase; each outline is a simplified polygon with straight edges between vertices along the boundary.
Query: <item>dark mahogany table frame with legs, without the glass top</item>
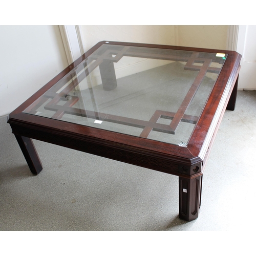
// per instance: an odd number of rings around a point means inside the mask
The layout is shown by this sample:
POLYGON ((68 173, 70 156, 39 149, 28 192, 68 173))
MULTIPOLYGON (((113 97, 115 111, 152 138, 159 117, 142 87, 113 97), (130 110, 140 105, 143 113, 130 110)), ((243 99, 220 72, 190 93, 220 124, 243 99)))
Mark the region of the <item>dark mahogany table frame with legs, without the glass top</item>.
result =
MULTIPOLYGON (((42 170, 42 164, 32 141, 36 139, 176 175, 179 176, 179 217, 187 221, 196 219, 201 205, 202 175, 210 148, 225 110, 234 110, 236 103, 241 55, 234 51, 224 51, 228 56, 187 147, 23 113, 42 94, 103 44, 106 44, 106 41, 99 42, 83 54, 9 115, 8 123, 31 172, 36 175, 42 170)), ((127 42, 110 41, 108 45, 220 52, 213 49, 127 42)))

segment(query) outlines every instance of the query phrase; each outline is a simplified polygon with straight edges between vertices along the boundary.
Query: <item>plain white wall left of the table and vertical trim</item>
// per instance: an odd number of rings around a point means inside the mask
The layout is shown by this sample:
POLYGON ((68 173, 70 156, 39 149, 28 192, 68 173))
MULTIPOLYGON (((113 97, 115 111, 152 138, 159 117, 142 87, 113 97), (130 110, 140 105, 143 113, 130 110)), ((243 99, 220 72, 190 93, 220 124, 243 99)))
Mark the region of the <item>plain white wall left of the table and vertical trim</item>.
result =
POLYGON ((58 26, 0 26, 0 116, 68 66, 58 26))

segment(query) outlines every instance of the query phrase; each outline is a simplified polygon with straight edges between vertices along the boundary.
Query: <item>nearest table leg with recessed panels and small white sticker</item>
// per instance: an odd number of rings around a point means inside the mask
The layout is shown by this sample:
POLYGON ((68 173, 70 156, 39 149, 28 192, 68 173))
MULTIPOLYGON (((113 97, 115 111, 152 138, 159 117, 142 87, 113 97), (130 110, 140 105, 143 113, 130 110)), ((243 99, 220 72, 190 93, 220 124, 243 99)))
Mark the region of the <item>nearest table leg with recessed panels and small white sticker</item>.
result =
POLYGON ((191 221, 198 218, 201 203, 202 176, 194 179, 179 177, 179 217, 191 221))

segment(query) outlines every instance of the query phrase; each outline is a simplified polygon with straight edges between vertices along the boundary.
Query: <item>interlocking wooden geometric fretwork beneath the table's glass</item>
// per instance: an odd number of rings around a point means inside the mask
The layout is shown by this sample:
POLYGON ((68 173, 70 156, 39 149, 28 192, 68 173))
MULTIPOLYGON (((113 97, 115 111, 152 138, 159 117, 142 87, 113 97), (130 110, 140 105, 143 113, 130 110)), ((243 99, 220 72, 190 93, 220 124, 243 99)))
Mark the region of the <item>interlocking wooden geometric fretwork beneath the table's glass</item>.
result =
MULTIPOLYGON (((51 118, 61 119, 61 117, 66 114, 83 116, 88 118, 99 119, 102 121, 119 123, 124 125, 130 125, 134 127, 140 127, 143 131, 140 134, 140 137, 147 138, 150 135, 151 131, 158 131, 163 133, 175 134, 175 130, 180 122, 189 122, 194 123, 198 121, 197 116, 185 115, 185 111, 188 108, 191 100, 194 98, 203 78, 207 72, 219 73, 220 69, 215 67, 210 67, 212 59, 210 58, 200 58, 198 52, 193 52, 190 56, 180 57, 175 55, 162 56, 157 53, 138 53, 133 52, 133 48, 123 47, 115 50, 107 50, 104 53, 94 53, 91 55, 83 65, 79 66, 76 70, 76 76, 66 77, 61 82, 55 84, 54 90, 49 90, 44 94, 43 97, 35 101, 26 111, 30 114, 36 114, 37 108, 44 104, 46 101, 51 99, 44 108, 55 112, 51 118), (70 95, 69 93, 82 81, 86 76, 94 70, 97 66, 105 60, 118 62, 123 56, 136 56, 143 58, 156 58, 156 59, 166 59, 166 60, 176 60, 176 61, 186 61, 184 66, 185 70, 197 71, 197 76, 191 84, 190 89, 188 90, 185 98, 180 104, 180 107, 176 113, 156 110, 154 115, 150 120, 140 120, 134 118, 127 118, 122 116, 110 115, 105 113, 99 113, 90 110, 82 110, 72 108, 72 106, 79 100, 77 96, 70 95), (93 61, 94 60, 94 61, 93 61), (90 63, 90 65, 89 65, 90 63), (88 66, 87 66, 88 65, 88 66), (84 68, 84 72, 80 72, 84 68), (72 80, 70 82, 70 80, 72 80), (66 86, 65 86, 66 85, 66 86), (67 101, 65 104, 58 104, 60 101, 67 101), (161 124, 158 123, 159 118, 169 119, 170 124, 161 124)), ((113 71, 114 72, 114 71, 113 71)))

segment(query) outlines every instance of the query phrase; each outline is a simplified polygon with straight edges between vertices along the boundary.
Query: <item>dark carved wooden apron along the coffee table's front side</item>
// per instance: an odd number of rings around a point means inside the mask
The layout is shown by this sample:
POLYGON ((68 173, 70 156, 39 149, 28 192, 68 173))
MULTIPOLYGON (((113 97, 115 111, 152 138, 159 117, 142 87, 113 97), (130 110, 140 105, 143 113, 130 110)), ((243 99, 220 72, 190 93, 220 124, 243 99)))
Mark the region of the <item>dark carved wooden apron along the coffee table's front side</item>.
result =
POLYGON ((32 127, 13 124, 12 133, 68 148, 86 152, 89 154, 125 162, 159 172, 176 175, 186 179, 194 179, 202 175, 202 161, 191 163, 190 159, 179 159, 172 156, 156 155, 153 152, 142 151, 140 148, 133 148, 127 145, 109 145, 107 142, 95 142, 90 139, 53 134, 46 131, 38 131, 32 127))

